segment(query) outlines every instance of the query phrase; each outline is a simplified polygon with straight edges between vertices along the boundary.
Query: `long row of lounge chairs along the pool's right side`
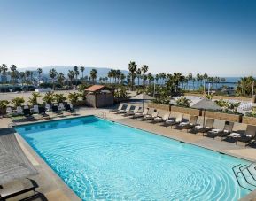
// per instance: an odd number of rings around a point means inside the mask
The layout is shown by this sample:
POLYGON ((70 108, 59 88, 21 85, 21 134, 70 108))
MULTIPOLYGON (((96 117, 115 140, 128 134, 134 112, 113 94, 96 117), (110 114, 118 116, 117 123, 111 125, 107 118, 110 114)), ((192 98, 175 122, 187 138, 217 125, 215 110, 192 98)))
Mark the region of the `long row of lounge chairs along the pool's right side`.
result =
POLYGON ((116 110, 111 110, 115 114, 120 114, 128 118, 148 121, 150 123, 158 123, 161 126, 187 130, 188 133, 198 134, 201 133, 203 136, 216 138, 220 137, 222 140, 227 140, 228 142, 242 142, 245 145, 255 142, 256 137, 256 126, 247 125, 244 131, 233 131, 234 122, 223 121, 223 124, 218 128, 215 127, 214 120, 208 118, 204 122, 200 122, 198 116, 190 116, 190 120, 183 119, 183 114, 178 113, 176 116, 172 115, 172 112, 164 112, 164 114, 159 115, 159 110, 153 109, 150 113, 149 108, 145 108, 143 112, 140 111, 139 106, 132 106, 128 104, 120 104, 119 108, 116 110), (134 109, 132 109, 134 107, 134 109))

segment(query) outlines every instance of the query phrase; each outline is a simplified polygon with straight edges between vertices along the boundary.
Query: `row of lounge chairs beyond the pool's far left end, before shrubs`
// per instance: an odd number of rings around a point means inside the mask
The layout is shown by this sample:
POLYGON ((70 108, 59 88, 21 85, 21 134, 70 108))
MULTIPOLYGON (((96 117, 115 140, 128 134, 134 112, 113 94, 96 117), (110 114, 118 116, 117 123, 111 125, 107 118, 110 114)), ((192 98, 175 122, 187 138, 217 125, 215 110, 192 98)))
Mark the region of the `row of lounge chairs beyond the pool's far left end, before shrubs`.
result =
POLYGON ((23 108, 18 106, 16 110, 12 110, 11 107, 6 108, 7 116, 24 116, 27 120, 50 119, 57 116, 64 117, 75 113, 72 104, 63 103, 53 105, 45 104, 44 106, 35 104, 31 108, 28 105, 25 105, 23 108))

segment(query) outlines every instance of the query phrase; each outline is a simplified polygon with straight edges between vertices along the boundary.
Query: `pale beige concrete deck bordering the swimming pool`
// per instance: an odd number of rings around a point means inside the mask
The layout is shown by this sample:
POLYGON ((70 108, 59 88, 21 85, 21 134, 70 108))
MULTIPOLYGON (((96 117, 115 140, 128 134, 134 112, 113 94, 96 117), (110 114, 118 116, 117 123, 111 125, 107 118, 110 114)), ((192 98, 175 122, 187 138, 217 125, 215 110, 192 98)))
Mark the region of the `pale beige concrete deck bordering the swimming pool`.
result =
MULTIPOLYGON (((220 151, 238 158, 244 158, 251 161, 256 160, 256 148, 244 147, 243 144, 235 144, 228 142, 221 142, 221 140, 204 137, 202 135, 193 135, 187 133, 186 131, 175 130, 170 127, 159 126, 158 124, 151 124, 148 122, 140 121, 140 120, 132 120, 126 117, 122 117, 120 115, 112 114, 107 109, 93 109, 93 108, 81 108, 77 113, 79 116, 86 115, 99 115, 101 112, 105 112, 106 119, 114 120, 116 122, 120 122, 122 124, 144 129, 146 131, 153 132, 157 135, 164 135, 170 138, 173 138, 178 141, 182 141, 185 143, 196 144, 201 147, 205 147, 207 149, 211 149, 213 151, 220 151)), ((75 117, 69 117, 75 118, 75 117)), ((55 118, 54 120, 63 120, 64 118, 55 118)), ((42 120, 46 121, 46 120, 42 120)), ((0 132, 1 128, 8 128, 8 125, 12 122, 9 118, 0 119, 0 132)), ((38 122, 38 121, 36 121, 38 122)), ((29 123, 29 122, 26 122, 29 123)), ((37 191, 41 192, 42 197, 35 197, 35 199, 31 200, 80 200, 74 192, 69 189, 65 182, 63 182, 57 174, 48 166, 42 158, 40 158, 35 151, 23 140, 23 138, 16 134, 19 144, 22 150, 27 155, 27 158, 30 162, 36 167, 39 174, 33 176, 32 179, 38 183, 39 188, 37 191)), ((28 194, 29 195, 29 194, 28 194)), ((27 197, 25 194, 23 197, 27 197)), ((18 198, 23 198, 18 197, 18 198)), ((10 200, 17 200, 17 197, 10 200)), ((247 197, 244 197, 241 200, 255 200, 256 201, 256 191, 253 191, 247 197)))

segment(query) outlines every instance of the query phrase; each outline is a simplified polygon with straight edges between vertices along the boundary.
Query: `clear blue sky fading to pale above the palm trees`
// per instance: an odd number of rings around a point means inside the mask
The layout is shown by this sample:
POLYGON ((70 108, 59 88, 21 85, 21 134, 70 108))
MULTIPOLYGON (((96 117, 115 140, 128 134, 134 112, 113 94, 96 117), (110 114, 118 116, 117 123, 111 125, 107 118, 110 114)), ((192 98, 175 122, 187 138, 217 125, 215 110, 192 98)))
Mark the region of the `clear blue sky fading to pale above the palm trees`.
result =
POLYGON ((0 63, 256 75, 254 0, 1 0, 0 63))

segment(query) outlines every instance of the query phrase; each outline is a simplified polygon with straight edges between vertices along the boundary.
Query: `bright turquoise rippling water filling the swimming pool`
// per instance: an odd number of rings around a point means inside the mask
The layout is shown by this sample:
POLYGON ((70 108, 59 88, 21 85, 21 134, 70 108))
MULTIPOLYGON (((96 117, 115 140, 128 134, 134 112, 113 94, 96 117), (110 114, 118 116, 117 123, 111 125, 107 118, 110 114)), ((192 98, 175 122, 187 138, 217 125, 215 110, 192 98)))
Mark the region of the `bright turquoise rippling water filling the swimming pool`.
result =
MULTIPOLYGON (((94 116, 16 130, 82 200, 237 200, 248 161, 94 116)), ((171 129, 170 129, 171 132, 171 129)))

